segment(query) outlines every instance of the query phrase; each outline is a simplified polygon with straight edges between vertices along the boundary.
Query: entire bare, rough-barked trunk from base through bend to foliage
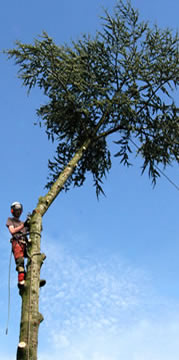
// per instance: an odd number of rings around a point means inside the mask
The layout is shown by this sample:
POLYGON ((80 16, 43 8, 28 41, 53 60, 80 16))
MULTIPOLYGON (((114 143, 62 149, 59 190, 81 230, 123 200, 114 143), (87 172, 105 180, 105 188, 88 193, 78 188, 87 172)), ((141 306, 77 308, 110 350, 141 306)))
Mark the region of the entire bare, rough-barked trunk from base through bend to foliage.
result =
POLYGON ((63 189, 66 180, 73 173, 90 142, 89 139, 81 146, 47 195, 39 198, 37 207, 33 211, 30 224, 31 245, 28 248, 26 281, 24 288, 19 291, 22 297, 22 310, 17 360, 37 360, 38 330, 41 321, 43 321, 43 316, 39 312, 40 268, 46 257, 40 252, 42 216, 63 189))

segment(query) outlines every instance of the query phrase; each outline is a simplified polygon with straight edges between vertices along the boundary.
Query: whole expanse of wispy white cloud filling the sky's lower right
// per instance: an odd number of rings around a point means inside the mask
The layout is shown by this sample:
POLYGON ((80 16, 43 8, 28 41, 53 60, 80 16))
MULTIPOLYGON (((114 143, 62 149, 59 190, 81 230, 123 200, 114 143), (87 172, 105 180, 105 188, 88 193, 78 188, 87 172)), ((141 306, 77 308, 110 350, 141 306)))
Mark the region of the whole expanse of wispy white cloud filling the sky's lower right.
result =
POLYGON ((48 343, 40 360, 50 359, 48 348, 54 360, 171 360, 171 351, 178 359, 176 304, 174 315, 147 274, 117 257, 82 259, 50 239, 45 246, 41 333, 48 343))

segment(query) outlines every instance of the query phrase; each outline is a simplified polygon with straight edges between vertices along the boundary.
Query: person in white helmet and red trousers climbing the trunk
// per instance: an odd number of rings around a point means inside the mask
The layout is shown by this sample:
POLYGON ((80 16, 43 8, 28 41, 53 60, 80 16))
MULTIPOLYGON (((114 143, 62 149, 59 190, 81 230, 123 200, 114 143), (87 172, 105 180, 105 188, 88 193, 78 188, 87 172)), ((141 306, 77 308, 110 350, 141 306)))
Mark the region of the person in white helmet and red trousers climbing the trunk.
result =
POLYGON ((11 214, 6 222, 12 238, 12 252, 14 255, 16 270, 18 272, 18 287, 21 288, 25 284, 25 268, 24 257, 27 257, 27 243, 29 241, 27 232, 29 231, 29 218, 25 222, 20 220, 23 211, 23 206, 19 202, 13 202, 11 205, 11 214))

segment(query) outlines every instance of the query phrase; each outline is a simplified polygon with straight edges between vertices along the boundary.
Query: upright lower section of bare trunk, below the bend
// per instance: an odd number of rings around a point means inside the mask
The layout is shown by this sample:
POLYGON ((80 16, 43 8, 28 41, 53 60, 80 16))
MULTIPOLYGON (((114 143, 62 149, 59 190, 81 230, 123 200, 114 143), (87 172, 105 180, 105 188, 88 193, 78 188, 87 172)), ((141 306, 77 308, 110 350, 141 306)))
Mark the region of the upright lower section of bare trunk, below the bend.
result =
POLYGON ((30 226, 31 246, 28 249, 28 262, 25 286, 20 290, 22 297, 20 338, 17 360, 36 360, 39 324, 43 316, 39 313, 40 268, 45 254, 40 252, 41 215, 34 213, 30 226))

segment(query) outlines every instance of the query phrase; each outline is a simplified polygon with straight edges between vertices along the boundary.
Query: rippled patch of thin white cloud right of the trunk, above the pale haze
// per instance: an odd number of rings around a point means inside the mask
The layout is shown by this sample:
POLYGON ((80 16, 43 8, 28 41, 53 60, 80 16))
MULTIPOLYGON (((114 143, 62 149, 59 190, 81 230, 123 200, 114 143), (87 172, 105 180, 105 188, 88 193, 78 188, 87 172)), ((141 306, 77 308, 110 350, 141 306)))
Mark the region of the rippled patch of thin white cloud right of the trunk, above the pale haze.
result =
POLYGON ((129 319, 134 310, 141 311, 146 285, 139 271, 115 258, 81 259, 49 240, 46 252, 47 286, 42 290, 41 307, 47 327, 62 334, 95 328, 114 333, 124 316, 129 319))

